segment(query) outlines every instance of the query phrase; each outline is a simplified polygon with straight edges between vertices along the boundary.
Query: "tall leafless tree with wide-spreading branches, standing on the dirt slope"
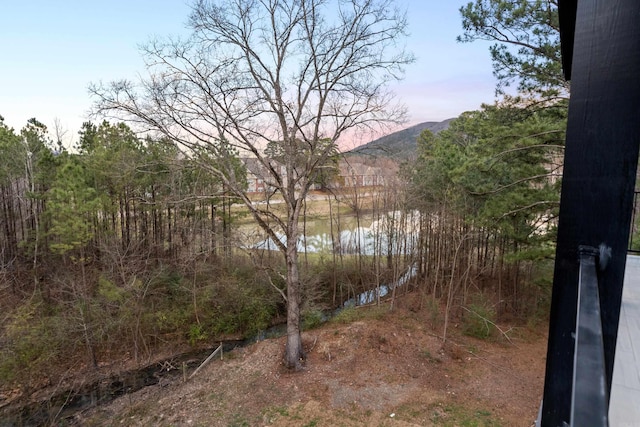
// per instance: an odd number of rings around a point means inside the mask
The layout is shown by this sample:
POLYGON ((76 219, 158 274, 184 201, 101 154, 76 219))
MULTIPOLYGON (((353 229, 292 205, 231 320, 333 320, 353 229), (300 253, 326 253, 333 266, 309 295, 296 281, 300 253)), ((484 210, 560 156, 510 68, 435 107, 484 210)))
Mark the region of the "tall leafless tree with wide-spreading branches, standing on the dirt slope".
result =
POLYGON ((188 25, 189 39, 143 48, 148 77, 92 85, 95 112, 178 142, 246 204, 286 260, 285 362, 299 368, 303 202, 347 130, 403 120, 386 88, 413 59, 405 15, 392 0, 198 0, 188 25), (227 162, 238 153, 261 164, 285 218, 252 204, 227 162))

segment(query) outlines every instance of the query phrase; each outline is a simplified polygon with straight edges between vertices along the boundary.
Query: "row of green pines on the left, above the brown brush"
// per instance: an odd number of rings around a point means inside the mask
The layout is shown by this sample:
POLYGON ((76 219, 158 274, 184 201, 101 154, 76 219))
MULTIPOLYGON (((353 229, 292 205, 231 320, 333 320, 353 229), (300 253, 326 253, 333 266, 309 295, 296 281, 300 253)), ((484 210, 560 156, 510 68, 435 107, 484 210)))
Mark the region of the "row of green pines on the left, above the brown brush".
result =
POLYGON ((84 123, 72 150, 35 119, 19 134, 0 122, 0 132, 0 262, 32 261, 36 284, 54 256, 226 250, 232 199, 172 142, 107 121, 84 123))

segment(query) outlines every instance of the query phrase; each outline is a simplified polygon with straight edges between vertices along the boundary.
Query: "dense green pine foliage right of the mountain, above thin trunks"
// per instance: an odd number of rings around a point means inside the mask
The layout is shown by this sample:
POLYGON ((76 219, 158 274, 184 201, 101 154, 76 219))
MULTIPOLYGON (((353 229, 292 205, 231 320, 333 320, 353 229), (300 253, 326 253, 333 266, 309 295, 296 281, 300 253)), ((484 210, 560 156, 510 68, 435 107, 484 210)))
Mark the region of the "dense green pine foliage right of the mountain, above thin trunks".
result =
POLYGON ((484 106, 421 135, 414 191, 513 242, 519 259, 553 255, 566 106, 484 106))

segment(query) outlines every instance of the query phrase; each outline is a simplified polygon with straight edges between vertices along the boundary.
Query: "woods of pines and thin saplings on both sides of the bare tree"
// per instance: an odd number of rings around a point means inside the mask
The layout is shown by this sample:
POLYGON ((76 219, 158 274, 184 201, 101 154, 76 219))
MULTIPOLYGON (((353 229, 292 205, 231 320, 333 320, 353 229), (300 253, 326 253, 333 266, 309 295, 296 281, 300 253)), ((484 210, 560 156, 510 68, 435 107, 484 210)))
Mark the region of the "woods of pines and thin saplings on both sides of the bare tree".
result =
MULTIPOLYGON (((417 275, 399 291, 421 292, 425 304, 544 317, 564 114, 562 105, 487 106, 423 133, 395 183, 323 190, 326 201, 308 209, 333 224, 334 241, 341 215, 387 221, 373 254, 305 257, 305 318, 413 264, 417 275), (413 250, 381 247, 383 235, 415 240, 413 250)), ((85 123, 65 150, 35 120, 20 134, 0 129, 11 159, 0 184, 3 382, 123 353, 142 361, 164 345, 251 336, 282 321, 281 259, 243 247, 246 211, 169 141, 105 121, 85 123)))

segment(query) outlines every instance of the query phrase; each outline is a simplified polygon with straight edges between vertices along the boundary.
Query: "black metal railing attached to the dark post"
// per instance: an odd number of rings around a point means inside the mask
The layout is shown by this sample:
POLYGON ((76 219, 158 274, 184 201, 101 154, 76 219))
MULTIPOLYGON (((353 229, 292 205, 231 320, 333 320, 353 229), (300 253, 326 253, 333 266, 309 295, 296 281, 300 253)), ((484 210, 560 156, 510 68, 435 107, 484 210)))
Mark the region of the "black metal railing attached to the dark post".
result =
POLYGON ((576 319, 571 396, 572 426, 608 426, 609 390, 604 361, 598 270, 603 249, 580 246, 578 314, 576 319))

